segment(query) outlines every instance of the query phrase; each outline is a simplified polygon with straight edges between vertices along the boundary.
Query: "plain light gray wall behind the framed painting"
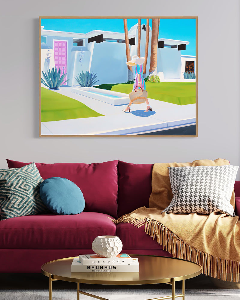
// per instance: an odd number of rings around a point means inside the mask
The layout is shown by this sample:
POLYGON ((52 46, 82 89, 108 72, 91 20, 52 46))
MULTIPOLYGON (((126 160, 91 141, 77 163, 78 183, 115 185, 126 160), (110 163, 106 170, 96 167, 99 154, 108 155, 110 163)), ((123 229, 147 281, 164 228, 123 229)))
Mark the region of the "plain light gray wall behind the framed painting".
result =
MULTIPOLYGON (((132 163, 239 154, 239 0, 2 1, 0 168, 35 162, 132 163), (61 3, 62 2, 62 3, 61 3), (198 16, 199 137, 38 137, 38 16, 198 16)), ((240 174, 240 172, 238 172, 240 174)), ((240 176, 238 175, 238 178, 240 176)))

